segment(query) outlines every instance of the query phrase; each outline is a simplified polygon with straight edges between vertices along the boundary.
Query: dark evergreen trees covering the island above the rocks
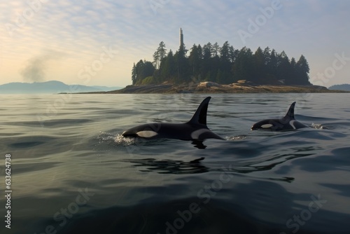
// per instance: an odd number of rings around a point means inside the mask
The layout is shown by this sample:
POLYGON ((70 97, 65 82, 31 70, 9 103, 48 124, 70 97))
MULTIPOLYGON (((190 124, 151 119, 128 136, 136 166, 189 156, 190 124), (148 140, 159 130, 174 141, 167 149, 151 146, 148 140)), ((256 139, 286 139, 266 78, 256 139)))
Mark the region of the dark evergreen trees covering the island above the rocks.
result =
POLYGON ((193 45, 187 55, 185 45, 176 53, 167 52, 162 41, 153 54, 153 62, 139 60, 132 67, 132 84, 190 83, 213 81, 221 84, 239 80, 256 84, 309 85, 309 64, 304 55, 289 59, 284 51, 277 53, 260 47, 237 50, 226 41, 223 46, 210 42, 193 45))

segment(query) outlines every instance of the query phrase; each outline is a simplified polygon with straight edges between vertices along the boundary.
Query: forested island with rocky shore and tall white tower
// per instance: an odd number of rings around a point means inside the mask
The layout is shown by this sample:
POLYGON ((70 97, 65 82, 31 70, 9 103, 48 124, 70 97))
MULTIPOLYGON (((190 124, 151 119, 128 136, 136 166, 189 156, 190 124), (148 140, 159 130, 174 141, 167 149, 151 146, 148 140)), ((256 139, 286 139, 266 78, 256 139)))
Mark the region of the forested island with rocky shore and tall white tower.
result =
MULTIPOLYGON (((94 93, 249 93, 249 92, 342 92, 309 82, 309 64, 304 55, 289 59, 282 51, 258 47, 236 49, 228 41, 194 44, 187 55, 180 29, 176 53, 163 41, 153 62, 139 60, 132 66, 132 85, 110 92, 94 93)), ((91 92, 90 92, 91 93, 91 92)))

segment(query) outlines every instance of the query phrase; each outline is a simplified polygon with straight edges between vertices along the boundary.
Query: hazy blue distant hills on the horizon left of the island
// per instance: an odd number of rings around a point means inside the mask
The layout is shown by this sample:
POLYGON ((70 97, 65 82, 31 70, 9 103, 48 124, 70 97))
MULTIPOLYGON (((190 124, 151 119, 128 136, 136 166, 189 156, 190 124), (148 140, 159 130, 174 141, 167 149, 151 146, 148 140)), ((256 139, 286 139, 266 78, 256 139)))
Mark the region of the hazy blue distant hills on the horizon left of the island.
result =
POLYGON ((34 83, 6 83, 0 85, 0 94, 55 94, 59 92, 101 92, 118 90, 121 87, 66 85, 61 81, 34 83))

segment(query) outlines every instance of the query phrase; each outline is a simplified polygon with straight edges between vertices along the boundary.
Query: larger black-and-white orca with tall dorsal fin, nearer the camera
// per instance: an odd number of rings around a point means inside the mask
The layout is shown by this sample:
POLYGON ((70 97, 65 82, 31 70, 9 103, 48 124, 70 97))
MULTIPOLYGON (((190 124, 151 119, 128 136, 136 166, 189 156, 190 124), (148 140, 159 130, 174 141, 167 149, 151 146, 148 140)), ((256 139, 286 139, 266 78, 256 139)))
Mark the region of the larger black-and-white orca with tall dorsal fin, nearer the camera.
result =
POLYGON ((209 138, 223 139, 207 127, 207 109, 210 99, 211 97, 207 97, 202 101, 187 123, 146 123, 126 130, 122 135, 146 139, 167 138, 193 141, 209 138))

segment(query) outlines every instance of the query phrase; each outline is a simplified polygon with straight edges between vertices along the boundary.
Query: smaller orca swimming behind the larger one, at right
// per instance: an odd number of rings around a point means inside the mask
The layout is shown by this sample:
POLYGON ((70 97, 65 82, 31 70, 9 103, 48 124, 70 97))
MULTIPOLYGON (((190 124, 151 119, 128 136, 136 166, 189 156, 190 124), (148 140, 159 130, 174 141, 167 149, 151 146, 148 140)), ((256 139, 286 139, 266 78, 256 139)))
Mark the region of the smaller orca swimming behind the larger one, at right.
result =
POLYGON ((251 130, 272 130, 272 131, 288 131, 288 130, 296 130, 299 128, 308 128, 307 125, 304 125, 298 121, 295 120, 294 117, 294 107, 295 102, 293 102, 288 112, 286 113, 286 116, 283 118, 272 118, 272 119, 266 119, 263 121, 260 121, 258 123, 255 123, 251 130))

